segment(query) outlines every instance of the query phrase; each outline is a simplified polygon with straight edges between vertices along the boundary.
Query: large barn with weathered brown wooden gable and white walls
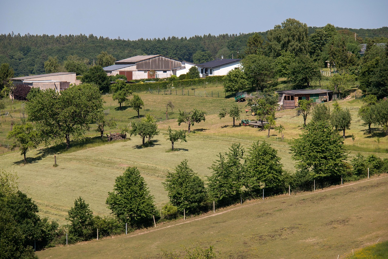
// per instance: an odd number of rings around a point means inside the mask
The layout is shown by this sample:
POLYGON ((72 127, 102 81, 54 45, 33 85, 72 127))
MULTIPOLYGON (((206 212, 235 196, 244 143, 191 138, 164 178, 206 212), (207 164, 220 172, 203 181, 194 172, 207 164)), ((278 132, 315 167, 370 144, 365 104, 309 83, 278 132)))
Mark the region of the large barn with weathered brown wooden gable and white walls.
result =
POLYGON ((189 72, 196 64, 168 58, 163 55, 144 55, 116 61, 112 66, 104 67, 107 75, 125 75, 127 80, 144 78, 166 78, 171 75, 180 76, 189 72), (155 75, 150 75, 154 70, 155 75))

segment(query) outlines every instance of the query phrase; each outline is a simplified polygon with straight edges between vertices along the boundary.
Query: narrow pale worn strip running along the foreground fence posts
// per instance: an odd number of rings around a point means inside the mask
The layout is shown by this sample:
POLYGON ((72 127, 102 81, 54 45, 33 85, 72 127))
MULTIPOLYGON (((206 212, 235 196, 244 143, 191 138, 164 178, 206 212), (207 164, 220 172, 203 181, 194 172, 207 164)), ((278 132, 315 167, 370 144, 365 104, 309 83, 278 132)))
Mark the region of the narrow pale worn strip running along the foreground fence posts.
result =
MULTIPOLYGON (((285 200, 285 199, 289 199, 291 197, 296 197, 296 196, 307 196, 307 195, 312 195, 312 194, 315 194, 315 193, 323 193, 323 192, 326 192, 326 191, 329 191, 329 190, 343 188, 343 187, 347 187, 347 186, 352 186, 352 185, 355 185, 355 184, 361 184, 361 183, 369 182, 369 181, 373 181, 373 180, 384 179, 384 178, 387 178, 387 177, 388 177, 388 175, 387 176, 383 176, 383 177, 379 176, 379 177, 376 177, 376 178, 360 180, 360 181, 353 182, 353 183, 350 183, 350 184, 343 184, 343 185, 340 185, 340 186, 329 187, 329 188, 326 188, 326 189, 323 189, 323 190, 320 190, 320 191, 315 191, 315 192, 310 192, 310 193, 303 193, 303 194, 300 194, 300 195, 296 194, 296 195, 289 196, 289 195, 285 194, 288 197, 279 198, 279 200, 285 200)), ((211 215, 206 215, 206 216, 203 216, 203 217, 198 217, 196 219, 187 220, 187 221, 180 222, 180 223, 177 223, 177 224, 173 224, 173 225, 170 225, 170 226, 165 226, 165 227, 162 227, 162 228, 154 228, 154 229, 151 229, 151 230, 148 230, 148 231, 144 231, 144 232, 141 232, 141 233, 137 233, 137 234, 134 234, 134 235, 128 235, 128 238, 133 237, 133 236, 139 236, 139 235, 147 234, 147 233, 158 231, 158 230, 161 230, 161 229, 166 229, 166 228, 171 228, 171 227, 179 226, 179 225, 182 225, 182 224, 191 223, 191 222, 194 222, 194 221, 199 221, 199 220, 202 220, 202 219, 207 219, 209 217, 215 217, 215 216, 218 216, 218 215, 221 215, 221 214, 233 211, 233 210, 238 210, 238 209, 241 209, 241 208, 250 207, 250 206, 253 206, 253 205, 260 204, 260 203, 268 203, 268 202, 271 202, 271 201, 274 201, 274 199, 270 199, 270 200, 267 200, 267 201, 254 200, 253 202, 251 202, 249 204, 241 205, 241 206, 238 206, 238 207, 235 205, 236 206, 235 208, 230 208, 230 209, 224 210, 222 212, 216 212, 216 213, 211 214, 211 215)))

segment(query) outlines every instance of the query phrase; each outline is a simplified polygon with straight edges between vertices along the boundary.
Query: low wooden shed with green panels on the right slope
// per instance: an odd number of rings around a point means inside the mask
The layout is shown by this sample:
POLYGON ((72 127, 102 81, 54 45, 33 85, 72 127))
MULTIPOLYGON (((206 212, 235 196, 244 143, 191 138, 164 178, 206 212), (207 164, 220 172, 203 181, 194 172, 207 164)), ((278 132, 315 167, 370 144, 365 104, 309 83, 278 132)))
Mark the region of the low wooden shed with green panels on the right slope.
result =
POLYGON ((331 101, 333 98, 333 91, 325 89, 315 90, 287 90, 278 91, 279 94, 279 108, 293 109, 298 107, 299 100, 314 100, 314 102, 321 103, 331 101))

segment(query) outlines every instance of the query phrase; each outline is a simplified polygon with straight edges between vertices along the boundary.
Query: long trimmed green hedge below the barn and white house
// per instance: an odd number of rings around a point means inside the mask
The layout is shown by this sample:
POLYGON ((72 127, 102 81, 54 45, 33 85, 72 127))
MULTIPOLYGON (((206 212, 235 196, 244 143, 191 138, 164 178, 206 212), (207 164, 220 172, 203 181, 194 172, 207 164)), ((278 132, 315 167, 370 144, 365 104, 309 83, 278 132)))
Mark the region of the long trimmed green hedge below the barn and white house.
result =
POLYGON ((207 83, 222 83, 224 79, 223 75, 215 75, 205 78, 197 79, 185 79, 185 80, 176 80, 176 81, 159 81, 152 83, 136 83, 128 84, 128 87, 133 92, 147 91, 148 89, 168 89, 170 87, 182 88, 182 87, 191 87, 197 85, 203 85, 207 83))

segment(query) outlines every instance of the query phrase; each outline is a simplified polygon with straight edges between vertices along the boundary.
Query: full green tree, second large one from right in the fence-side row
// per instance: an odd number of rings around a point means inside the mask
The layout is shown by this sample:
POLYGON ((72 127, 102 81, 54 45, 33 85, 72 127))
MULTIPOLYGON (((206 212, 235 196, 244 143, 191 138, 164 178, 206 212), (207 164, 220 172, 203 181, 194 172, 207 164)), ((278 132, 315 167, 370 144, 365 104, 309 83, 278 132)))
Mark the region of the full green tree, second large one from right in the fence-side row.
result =
POLYGON ((253 143, 248 149, 244 163, 244 186, 254 193, 263 188, 281 185, 282 164, 277 151, 267 142, 253 143))

